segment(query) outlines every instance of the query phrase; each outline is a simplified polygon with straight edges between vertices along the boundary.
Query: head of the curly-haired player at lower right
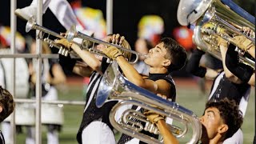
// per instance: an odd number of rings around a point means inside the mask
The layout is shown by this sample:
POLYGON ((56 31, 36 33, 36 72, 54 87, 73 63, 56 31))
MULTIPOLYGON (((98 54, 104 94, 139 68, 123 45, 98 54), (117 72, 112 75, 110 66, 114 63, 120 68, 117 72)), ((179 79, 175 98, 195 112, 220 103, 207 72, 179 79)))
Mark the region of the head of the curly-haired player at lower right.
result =
POLYGON ((234 100, 207 102, 199 119, 202 123, 202 143, 219 143, 230 138, 242 126, 242 112, 234 100))

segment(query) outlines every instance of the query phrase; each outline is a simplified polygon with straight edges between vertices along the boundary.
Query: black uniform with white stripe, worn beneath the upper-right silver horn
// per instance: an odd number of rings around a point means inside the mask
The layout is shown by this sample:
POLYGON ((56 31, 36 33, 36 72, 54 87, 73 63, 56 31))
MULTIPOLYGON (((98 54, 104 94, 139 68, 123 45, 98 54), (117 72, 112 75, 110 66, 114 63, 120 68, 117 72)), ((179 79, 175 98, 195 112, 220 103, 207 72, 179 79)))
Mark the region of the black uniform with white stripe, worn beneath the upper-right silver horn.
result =
MULTIPOLYGON (((204 78, 206 75, 206 68, 199 66, 202 55, 205 54, 202 50, 194 50, 190 60, 187 63, 186 70, 195 76, 204 78)), ((222 98, 233 99, 242 110, 243 115, 246 112, 247 101, 250 94, 250 85, 243 82, 242 84, 235 84, 230 82, 224 71, 220 72, 216 78, 214 78, 213 86, 210 90, 209 100, 219 101, 222 98), (241 103, 242 102, 242 103, 241 103)))

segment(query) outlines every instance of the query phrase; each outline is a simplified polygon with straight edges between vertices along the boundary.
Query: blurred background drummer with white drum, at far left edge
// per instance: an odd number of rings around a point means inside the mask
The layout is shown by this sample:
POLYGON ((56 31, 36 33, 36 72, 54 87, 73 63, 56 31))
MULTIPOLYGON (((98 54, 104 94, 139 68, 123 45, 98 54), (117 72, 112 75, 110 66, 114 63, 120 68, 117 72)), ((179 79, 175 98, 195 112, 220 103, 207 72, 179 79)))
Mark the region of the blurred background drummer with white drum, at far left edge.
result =
MULTIPOLYGON (((16 44, 15 49, 17 53, 22 53, 26 50, 26 41, 25 38, 18 32, 15 34, 16 44)), ((11 54, 10 50, 10 27, 9 26, 0 26, 0 54, 11 54)), ((13 58, 0 58, 0 86, 6 90, 11 90, 14 86, 14 82, 12 82, 12 71, 14 69, 13 58)), ((15 98, 27 98, 29 93, 29 72, 28 66, 25 58, 15 58, 15 98)), ((27 103, 17 103, 15 105, 15 118, 16 118, 16 132, 21 132, 21 126, 26 121, 30 122, 30 114, 27 114, 28 111, 33 111, 27 109, 27 103), (25 109, 21 109, 26 107, 25 109), (27 115, 24 115, 27 114, 27 115), (29 117, 29 118, 27 118, 29 117)), ((2 134, 6 140, 6 144, 9 144, 11 139, 13 138, 12 127, 10 126, 11 118, 5 118, 3 122, 1 122, 2 134)))

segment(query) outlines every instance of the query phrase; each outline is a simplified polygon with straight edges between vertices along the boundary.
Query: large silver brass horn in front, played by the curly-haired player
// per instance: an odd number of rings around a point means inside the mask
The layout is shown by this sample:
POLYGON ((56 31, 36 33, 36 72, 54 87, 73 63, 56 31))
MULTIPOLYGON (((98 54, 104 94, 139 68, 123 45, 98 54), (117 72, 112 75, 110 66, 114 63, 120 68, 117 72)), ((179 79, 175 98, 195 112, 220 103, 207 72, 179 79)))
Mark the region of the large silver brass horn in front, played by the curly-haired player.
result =
POLYGON ((189 142, 196 143, 201 138, 202 125, 198 117, 190 110, 170 102, 129 82, 118 70, 118 63, 113 62, 106 69, 98 87, 96 106, 101 107, 105 102, 118 101, 110 110, 110 123, 123 134, 138 138, 146 143, 162 143, 162 140, 142 134, 142 130, 159 134, 157 126, 151 123, 142 112, 133 110, 131 106, 139 106, 143 110, 151 110, 172 118, 168 124, 176 138, 183 138, 188 132, 192 135, 189 142))

